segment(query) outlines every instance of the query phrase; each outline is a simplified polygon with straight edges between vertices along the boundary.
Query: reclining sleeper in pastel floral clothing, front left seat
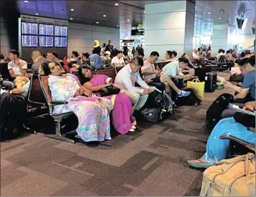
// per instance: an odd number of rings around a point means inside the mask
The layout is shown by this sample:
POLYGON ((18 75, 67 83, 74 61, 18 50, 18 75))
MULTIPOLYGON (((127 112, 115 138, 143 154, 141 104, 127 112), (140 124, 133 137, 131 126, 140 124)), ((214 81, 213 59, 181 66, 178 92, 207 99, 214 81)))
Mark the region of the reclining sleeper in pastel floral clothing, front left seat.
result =
POLYGON ((63 75, 58 64, 43 63, 42 70, 40 74, 50 75, 48 84, 52 100, 68 100, 68 104, 55 106, 53 113, 74 112, 78 117, 76 132, 85 142, 111 140, 109 121, 111 100, 90 97, 91 90, 81 86, 75 75, 70 73, 63 75))

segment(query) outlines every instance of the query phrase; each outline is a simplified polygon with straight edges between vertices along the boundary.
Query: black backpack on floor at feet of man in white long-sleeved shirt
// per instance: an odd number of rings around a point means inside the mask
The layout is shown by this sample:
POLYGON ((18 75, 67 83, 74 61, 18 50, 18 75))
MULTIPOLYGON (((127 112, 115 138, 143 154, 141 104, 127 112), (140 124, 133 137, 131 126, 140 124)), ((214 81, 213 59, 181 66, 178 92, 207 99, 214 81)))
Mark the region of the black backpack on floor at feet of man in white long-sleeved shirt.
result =
POLYGON ((165 92, 151 92, 147 102, 140 109, 139 118, 150 122, 159 122, 172 114, 173 100, 165 92))

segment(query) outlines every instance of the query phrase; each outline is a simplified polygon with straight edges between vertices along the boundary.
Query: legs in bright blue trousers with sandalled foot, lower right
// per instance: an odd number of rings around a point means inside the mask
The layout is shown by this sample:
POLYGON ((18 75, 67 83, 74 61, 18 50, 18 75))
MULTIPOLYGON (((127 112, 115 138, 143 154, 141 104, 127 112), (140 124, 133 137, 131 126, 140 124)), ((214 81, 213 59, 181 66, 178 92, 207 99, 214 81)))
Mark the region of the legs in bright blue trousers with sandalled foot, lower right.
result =
MULTIPOLYGON (((253 107, 255 110, 255 105, 247 105, 244 109, 250 109, 253 107)), ((255 118, 253 118, 255 120, 255 118)), ((212 130, 211 135, 207 141, 206 153, 202 158, 198 160, 188 160, 188 164, 195 168, 208 168, 211 165, 218 163, 227 157, 227 150, 229 150, 230 140, 221 140, 219 137, 221 135, 232 135, 240 140, 244 140, 247 143, 252 143, 255 145, 255 133, 247 130, 247 127, 236 122, 234 117, 228 117, 220 120, 212 130)))

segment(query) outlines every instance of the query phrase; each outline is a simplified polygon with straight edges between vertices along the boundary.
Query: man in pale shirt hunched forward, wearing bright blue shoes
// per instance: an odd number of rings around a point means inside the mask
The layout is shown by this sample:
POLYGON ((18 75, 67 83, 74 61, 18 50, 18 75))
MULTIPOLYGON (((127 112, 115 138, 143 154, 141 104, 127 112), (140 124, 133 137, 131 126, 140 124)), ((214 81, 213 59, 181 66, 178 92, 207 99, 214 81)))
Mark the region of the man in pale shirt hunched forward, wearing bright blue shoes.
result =
POLYGON ((191 80, 193 75, 183 75, 181 72, 182 69, 188 66, 188 59, 179 58, 178 61, 170 62, 163 67, 162 72, 160 74, 161 82, 168 82, 168 85, 178 94, 178 97, 186 97, 190 95, 191 92, 186 92, 184 90, 178 89, 175 83, 172 80, 175 79, 183 79, 183 80, 191 80), (172 80, 168 80, 169 77, 172 80))

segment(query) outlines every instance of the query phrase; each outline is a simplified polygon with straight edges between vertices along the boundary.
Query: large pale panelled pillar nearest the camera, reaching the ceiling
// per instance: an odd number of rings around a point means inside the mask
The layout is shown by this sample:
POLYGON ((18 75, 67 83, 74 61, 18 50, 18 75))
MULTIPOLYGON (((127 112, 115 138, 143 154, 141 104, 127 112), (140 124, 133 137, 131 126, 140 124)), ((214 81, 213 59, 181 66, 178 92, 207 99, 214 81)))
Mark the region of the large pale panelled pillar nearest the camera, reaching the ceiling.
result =
POLYGON ((168 1, 145 5, 145 56, 156 51, 163 59, 166 51, 180 57, 193 50, 195 6, 193 1, 168 1))

